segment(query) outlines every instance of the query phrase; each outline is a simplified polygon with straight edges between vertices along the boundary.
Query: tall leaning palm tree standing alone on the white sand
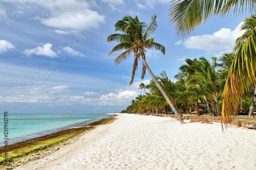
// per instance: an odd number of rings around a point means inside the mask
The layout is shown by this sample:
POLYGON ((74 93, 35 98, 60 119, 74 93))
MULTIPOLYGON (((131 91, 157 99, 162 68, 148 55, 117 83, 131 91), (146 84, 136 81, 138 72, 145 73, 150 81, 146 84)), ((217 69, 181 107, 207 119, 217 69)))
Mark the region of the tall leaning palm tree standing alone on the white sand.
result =
POLYGON ((168 96, 157 81, 155 75, 146 63, 145 52, 147 49, 158 50, 165 54, 165 47, 159 43, 154 42, 155 38, 150 38, 150 36, 155 33, 157 28, 156 17, 156 15, 151 16, 151 23, 149 26, 147 26, 145 22, 140 22, 137 15, 135 17, 126 15, 121 20, 117 21, 117 23, 115 24, 115 31, 120 31, 123 34, 112 34, 108 37, 108 42, 119 42, 119 44, 117 44, 112 49, 109 55, 117 51, 124 51, 115 59, 114 64, 117 65, 129 58, 132 53, 134 54, 134 65, 130 85, 133 83, 135 72, 138 68, 138 60, 142 59, 141 79, 144 78, 145 71, 147 69, 147 71, 150 73, 153 80, 155 81, 157 87, 164 95, 164 98, 166 99, 170 107, 172 107, 172 109, 174 110, 180 124, 185 124, 185 122, 179 116, 177 109, 169 100, 168 96))

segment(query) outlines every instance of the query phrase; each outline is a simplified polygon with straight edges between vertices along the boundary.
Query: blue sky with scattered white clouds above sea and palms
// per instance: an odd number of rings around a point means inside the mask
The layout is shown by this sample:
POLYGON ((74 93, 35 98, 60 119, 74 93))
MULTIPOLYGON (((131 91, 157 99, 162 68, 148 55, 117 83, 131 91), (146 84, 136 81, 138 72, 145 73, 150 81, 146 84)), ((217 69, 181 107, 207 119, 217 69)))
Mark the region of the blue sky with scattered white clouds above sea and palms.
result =
MULTIPOLYGON (((141 65, 129 86, 134 57, 115 66, 106 42, 124 15, 150 23, 157 15, 155 42, 165 55, 147 51, 156 76, 170 79, 185 58, 220 57, 242 35, 244 16, 214 18, 188 37, 177 37, 168 23, 165 0, 2 0, 0 2, 0 112, 115 113, 126 109, 152 79, 141 65)), ((248 16, 245 16, 248 17, 248 16)))

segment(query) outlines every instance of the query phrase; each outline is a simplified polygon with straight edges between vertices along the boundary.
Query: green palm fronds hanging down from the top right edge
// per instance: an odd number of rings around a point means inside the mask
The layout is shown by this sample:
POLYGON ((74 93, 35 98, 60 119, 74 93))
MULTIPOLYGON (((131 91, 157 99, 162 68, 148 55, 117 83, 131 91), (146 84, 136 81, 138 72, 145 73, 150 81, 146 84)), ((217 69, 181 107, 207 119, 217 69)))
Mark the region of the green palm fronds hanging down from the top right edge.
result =
POLYGON ((188 36, 202 21, 228 13, 255 13, 256 0, 172 0, 169 6, 169 22, 178 36, 188 36), (230 11, 233 9, 233 11, 230 11))

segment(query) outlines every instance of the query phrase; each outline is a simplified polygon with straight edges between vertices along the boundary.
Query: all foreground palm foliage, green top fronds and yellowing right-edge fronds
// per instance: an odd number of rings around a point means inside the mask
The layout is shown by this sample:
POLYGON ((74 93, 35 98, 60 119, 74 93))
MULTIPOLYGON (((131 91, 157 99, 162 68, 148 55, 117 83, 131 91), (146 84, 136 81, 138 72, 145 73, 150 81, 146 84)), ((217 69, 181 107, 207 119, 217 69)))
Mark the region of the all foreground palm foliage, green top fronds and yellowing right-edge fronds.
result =
POLYGON ((229 124, 232 113, 239 108, 240 99, 256 85, 256 20, 253 15, 256 1, 173 0, 170 3, 169 22, 174 26, 177 36, 183 37, 188 36, 202 21, 206 22, 209 18, 243 12, 252 15, 245 19, 242 27, 245 33, 237 39, 233 50, 234 59, 222 93, 222 122, 229 124))

